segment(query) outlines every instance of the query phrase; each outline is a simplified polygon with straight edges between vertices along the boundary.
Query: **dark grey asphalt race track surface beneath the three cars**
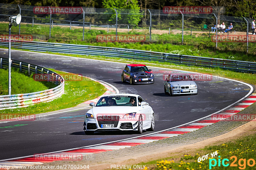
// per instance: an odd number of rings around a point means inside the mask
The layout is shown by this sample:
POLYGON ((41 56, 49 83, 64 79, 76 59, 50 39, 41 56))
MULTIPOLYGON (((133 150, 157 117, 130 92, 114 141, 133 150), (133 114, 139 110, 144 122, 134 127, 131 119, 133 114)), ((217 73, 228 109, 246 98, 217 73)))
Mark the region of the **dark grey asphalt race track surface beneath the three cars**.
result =
MULTIPOLYGON (((1 57, 8 58, 8 51, 0 49, 1 57)), ((164 68, 152 68, 154 84, 130 85, 121 82, 125 64, 68 58, 51 54, 12 51, 12 59, 41 67, 82 74, 114 85, 120 93, 135 93, 150 104, 156 115, 155 131, 164 130, 210 115, 244 97, 250 88, 242 83, 218 77, 196 81, 198 95, 168 96, 164 94, 163 77, 172 72, 164 68)), ((142 63, 141 63, 142 64, 142 63)), ((54 106, 53 106, 54 107, 54 106)), ((140 136, 128 132, 96 132, 85 135, 84 115, 88 109, 45 116, 35 121, 15 121, 0 124, 0 160, 38 153, 59 151, 94 145, 124 138, 140 136), (12 127, 20 124, 20 126, 12 127), (10 128, 1 128, 7 127, 10 128), (12 127, 12 128, 11 128, 12 127)), ((143 135, 150 132, 143 132, 143 135)))

